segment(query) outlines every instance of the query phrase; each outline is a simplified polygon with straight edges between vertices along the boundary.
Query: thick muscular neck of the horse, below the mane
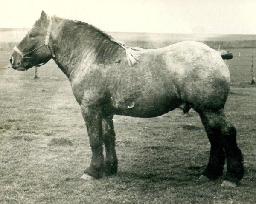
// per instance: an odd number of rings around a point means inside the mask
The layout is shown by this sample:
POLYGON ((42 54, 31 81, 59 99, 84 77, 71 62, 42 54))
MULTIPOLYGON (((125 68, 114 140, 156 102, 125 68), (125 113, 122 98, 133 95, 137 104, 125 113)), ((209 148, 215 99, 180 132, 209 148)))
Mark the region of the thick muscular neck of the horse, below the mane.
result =
POLYGON ((52 44, 56 64, 70 80, 81 66, 90 68, 93 65, 113 63, 123 50, 97 28, 70 20, 62 23, 52 44))

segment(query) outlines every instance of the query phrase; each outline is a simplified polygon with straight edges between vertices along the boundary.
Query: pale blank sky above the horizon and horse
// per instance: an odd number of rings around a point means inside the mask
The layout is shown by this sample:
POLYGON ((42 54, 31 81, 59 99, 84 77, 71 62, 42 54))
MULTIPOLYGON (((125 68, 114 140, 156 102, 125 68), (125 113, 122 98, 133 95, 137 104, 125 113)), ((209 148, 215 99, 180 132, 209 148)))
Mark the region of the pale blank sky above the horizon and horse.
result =
POLYGON ((0 0, 0 28, 49 15, 106 32, 256 34, 256 0, 0 0))

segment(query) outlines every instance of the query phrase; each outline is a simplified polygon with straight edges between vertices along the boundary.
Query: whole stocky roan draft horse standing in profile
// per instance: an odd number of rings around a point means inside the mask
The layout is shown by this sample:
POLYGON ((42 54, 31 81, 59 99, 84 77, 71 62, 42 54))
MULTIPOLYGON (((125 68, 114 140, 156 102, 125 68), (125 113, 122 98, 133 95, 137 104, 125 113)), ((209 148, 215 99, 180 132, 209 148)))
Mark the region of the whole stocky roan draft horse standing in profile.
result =
POLYGON ((92 159, 83 178, 117 172, 114 114, 148 118, 175 108, 198 112, 209 138, 209 163, 201 180, 222 176, 225 159, 223 185, 243 177, 236 129, 224 114, 230 73, 217 51, 193 41, 159 49, 129 48, 87 23, 42 11, 14 48, 10 63, 25 71, 50 59, 70 80, 87 127, 92 159))

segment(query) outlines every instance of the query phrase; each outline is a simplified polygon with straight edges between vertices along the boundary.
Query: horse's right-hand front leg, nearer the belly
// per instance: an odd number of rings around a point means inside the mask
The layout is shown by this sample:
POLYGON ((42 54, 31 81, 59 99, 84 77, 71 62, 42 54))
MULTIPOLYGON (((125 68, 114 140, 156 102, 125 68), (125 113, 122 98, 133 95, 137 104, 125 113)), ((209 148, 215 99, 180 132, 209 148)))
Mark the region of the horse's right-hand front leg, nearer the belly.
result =
POLYGON ((115 150, 115 131, 113 116, 102 120, 103 142, 105 144, 105 175, 110 176, 117 172, 118 160, 115 150))

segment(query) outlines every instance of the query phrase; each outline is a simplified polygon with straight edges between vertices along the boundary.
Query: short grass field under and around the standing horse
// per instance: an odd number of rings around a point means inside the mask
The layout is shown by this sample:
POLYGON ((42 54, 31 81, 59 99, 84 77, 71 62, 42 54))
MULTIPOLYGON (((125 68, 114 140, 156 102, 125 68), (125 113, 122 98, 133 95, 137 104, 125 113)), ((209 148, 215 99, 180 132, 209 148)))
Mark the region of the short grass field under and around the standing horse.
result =
MULTIPOLYGON (((119 172, 82 180, 91 157, 86 128, 68 79, 51 61, 38 79, 34 68, 0 70, 0 204, 254 204, 256 87, 248 83, 255 49, 231 51, 237 57, 228 62, 226 110, 244 154, 239 187, 198 181, 209 141, 198 114, 181 110, 151 119, 115 116, 119 172)), ((0 67, 8 58, 0 52, 0 67)))

